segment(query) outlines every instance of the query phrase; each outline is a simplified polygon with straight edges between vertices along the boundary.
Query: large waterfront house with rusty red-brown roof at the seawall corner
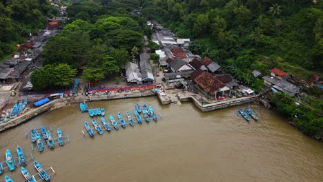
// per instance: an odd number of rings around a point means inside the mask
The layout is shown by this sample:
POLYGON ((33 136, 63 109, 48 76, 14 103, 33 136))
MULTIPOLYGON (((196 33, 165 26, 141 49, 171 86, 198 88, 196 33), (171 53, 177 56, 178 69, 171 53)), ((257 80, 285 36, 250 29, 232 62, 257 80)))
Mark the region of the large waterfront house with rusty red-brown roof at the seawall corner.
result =
POLYGON ((213 77, 210 73, 203 70, 195 70, 190 74, 190 78, 195 83, 195 87, 206 93, 212 99, 219 96, 231 96, 231 90, 222 81, 213 77))

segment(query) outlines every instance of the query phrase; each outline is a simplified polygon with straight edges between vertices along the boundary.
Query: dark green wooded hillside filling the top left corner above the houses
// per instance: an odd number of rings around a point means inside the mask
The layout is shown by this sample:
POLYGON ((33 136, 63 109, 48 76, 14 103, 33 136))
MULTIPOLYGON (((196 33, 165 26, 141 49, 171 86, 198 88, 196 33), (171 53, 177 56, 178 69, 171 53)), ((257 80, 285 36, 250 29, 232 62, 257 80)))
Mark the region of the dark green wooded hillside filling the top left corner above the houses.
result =
POLYGON ((0 2, 0 58, 14 52, 16 44, 37 34, 47 23, 46 17, 56 15, 58 9, 48 1, 15 0, 0 2))

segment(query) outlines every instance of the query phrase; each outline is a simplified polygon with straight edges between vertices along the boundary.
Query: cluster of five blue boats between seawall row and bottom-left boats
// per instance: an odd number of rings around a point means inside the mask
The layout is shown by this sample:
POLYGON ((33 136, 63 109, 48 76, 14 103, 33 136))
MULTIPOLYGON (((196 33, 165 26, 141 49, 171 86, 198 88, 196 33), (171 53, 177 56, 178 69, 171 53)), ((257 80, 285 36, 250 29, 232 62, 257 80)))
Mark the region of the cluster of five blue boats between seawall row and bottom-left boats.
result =
MULTIPOLYGON (((37 143, 37 148, 39 151, 43 151, 43 141, 41 140, 41 136, 43 136, 43 139, 46 141, 49 148, 55 148, 55 138, 52 137, 52 133, 50 131, 51 131, 51 128, 50 130, 46 130, 45 125, 41 126, 40 134, 35 128, 32 128, 30 130, 30 139, 32 143, 37 143)), ((63 132, 61 131, 61 128, 57 128, 56 139, 59 145, 64 145, 64 136, 63 136, 63 132)))

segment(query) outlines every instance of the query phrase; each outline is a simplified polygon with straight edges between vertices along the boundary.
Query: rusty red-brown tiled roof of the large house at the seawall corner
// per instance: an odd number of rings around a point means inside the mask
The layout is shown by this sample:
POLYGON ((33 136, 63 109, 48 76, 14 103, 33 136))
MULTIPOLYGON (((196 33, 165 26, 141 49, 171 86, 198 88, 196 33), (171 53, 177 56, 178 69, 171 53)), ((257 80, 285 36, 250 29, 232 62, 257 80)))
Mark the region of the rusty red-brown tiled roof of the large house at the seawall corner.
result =
POLYGON ((223 88, 225 85, 222 81, 219 81, 215 77, 212 77, 208 72, 201 72, 202 70, 196 70, 191 74, 191 78, 195 83, 197 83, 201 88, 206 90, 209 94, 213 95, 217 90, 223 88), (195 75, 196 74, 196 75, 195 75))

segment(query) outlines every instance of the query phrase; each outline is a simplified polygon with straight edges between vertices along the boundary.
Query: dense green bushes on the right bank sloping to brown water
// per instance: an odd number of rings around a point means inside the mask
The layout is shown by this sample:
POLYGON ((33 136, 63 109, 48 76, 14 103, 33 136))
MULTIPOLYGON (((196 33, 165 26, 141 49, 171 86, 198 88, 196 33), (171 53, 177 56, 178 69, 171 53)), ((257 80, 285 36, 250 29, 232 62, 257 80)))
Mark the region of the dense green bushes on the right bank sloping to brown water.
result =
POLYGON ((302 97, 302 103, 288 94, 277 92, 271 102, 297 128, 316 139, 323 137, 323 102, 311 97, 302 97))

